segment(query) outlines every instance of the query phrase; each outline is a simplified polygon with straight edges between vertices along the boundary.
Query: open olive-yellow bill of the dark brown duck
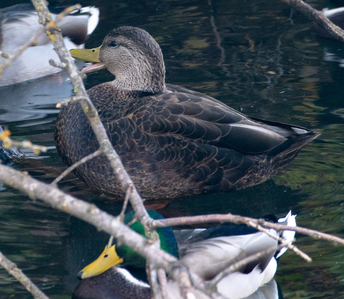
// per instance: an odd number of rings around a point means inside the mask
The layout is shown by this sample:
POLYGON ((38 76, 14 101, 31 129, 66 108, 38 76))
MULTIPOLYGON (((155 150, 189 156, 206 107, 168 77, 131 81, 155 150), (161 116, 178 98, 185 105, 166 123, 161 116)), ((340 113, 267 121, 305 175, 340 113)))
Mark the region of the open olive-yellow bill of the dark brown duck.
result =
POLYGON ((93 49, 72 49, 69 50, 69 53, 71 53, 72 57, 77 60, 96 62, 95 64, 84 67, 81 70, 83 73, 91 73, 106 69, 105 64, 99 61, 99 49, 100 47, 93 49))

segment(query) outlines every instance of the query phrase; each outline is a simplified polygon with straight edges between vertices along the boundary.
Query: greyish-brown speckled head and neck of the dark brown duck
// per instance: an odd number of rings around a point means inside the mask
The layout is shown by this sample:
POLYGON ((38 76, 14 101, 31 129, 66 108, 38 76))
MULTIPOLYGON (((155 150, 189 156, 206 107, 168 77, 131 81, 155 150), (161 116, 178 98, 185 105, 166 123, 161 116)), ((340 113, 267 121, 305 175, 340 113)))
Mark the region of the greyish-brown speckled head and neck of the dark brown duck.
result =
POLYGON ((122 26, 112 30, 100 47, 99 59, 116 76, 119 89, 161 93, 165 66, 161 49, 143 29, 122 26))

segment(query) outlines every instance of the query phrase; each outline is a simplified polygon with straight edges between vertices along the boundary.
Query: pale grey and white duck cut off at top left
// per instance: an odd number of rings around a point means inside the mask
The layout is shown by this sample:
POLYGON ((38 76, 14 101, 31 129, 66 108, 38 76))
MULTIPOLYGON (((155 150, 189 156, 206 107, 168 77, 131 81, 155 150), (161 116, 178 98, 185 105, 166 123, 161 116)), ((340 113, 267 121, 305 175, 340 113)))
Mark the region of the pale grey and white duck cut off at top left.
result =
MULTIPOLYGON (((61 10, 62 11, 62 10, 61 10)), ((52 10, 52 18, 56 16, 52 10)), ((99 9, 83 7, 71 12, 59 26, 67 49, 82 48, 88 36, 98 24, 99 9)), ((14 54, 19 47, 27 42, 42 27, 32 4, 17 4, 0 10, 0 49, 4 53, 14 54), (18 34, 20 32, 20 34, 18 34)), ((0 79, 0 86, 21 82, 24 80, 46 76, 61 69, 49 64, 49 59, 60 61, 53 50, 46 34, 41 34, 37 43, 13 61, 0 79)), ((0 58, 0 64, 6 60, 0 58)))

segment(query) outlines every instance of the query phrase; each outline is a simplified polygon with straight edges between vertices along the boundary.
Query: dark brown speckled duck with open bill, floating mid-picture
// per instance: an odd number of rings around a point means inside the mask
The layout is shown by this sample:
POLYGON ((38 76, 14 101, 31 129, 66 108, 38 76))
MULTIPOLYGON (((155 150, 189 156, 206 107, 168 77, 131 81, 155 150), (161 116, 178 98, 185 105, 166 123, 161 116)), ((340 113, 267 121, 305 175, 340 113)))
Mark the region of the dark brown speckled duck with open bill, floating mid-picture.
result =
MULTIPOLYGON (((74 56, 83 53, 74 51, 74 56)), ((96 59, 88 60, 98 59, 97 49, 89 53, 96 59)), ((116 78, 87 92, 142 197, 175 198, 259 184, 319 135, 250 118, 210 96, 165 84, 161 49, 143 29, 112 30, 99 60, 99 68, 105 65, 116 78)), ((68 165, 99 148, 78 103, 58 114, 55 144, 68 165)), ((77 167, 75 174, 100 192, 124 198, 104 156, 77 167)))

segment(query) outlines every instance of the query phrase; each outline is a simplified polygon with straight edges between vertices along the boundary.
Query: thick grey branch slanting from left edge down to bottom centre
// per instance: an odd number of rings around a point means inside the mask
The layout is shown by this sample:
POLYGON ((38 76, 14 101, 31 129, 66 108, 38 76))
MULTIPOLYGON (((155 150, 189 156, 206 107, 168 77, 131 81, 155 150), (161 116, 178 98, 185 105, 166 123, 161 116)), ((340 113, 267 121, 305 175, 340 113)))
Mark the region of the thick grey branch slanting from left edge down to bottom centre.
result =
POLYGON ((28 194, 32 199, 41 199, 53 208, 78 217, 97 229, 114 235, 120 243, 126 244, 145 257, 156 269, 163 268, 174 280, 179 281, 185 298, 192 298, 194 288, 207 294, 208 291, 202 287, 204 282, 202 286, 192 286, 187 269, 174 256, 157 248, 155 243, 131 230, 118 217, 109 215, 93 204, 65 194, 55 185, 37 181, 28 174, 8 166, 0 165, 0 181, 28 194))

